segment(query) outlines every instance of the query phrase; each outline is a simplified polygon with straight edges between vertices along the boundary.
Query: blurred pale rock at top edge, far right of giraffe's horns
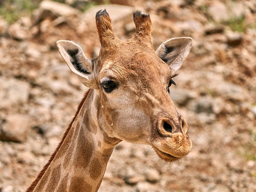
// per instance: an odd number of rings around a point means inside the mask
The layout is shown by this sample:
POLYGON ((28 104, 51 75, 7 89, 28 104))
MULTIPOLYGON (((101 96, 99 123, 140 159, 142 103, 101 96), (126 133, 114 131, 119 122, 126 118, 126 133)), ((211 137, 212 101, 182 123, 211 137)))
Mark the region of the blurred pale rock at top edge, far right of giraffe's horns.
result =
POLYGON ((225 4, 220 1, 212 1, 208 12, 212 16, 212 19, 216 22, 229 19, 228 10, 225 4))

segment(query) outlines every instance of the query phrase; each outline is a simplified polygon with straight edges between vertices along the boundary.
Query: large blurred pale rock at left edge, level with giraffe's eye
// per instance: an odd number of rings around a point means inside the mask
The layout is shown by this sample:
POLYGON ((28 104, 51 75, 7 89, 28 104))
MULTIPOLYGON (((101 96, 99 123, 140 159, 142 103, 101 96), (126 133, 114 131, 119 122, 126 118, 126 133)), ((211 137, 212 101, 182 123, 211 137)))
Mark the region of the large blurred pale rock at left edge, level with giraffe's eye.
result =
POLYGON ((30 85, 27 82, 0 77, 0 108, 26 103, 29 89, 30 85))

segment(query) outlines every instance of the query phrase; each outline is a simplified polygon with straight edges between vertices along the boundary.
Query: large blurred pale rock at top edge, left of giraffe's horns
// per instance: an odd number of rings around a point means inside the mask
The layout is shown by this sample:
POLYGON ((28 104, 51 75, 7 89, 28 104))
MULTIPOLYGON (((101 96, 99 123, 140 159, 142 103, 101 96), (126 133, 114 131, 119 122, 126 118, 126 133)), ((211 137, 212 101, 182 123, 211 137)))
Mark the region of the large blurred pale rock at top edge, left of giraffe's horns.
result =
POLYGON ((81 12, 67 4, 60 2, 44 0, 40 3, 39 9, 34 12, 34 20, 36 23, 50 18, 54 20, 60 16, 77 17, 81 12))

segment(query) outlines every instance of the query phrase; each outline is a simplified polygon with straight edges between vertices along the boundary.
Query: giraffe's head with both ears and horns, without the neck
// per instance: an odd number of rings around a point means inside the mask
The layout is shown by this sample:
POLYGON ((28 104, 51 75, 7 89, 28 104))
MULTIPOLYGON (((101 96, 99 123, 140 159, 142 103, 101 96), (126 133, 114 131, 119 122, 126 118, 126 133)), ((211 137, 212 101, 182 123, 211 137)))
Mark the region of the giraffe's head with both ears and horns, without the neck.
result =
POLYGON ((57 47, 68 67, 94 89, 101 106, 99 125, 108 136, 151 145, 165 161, 187 155, 192 147, 188 124, 168 92, 186 60, 192 38, 172 38, 154 51, 149 14, 133 13, 134 36, 121 41, 106 10, 96 14, 101 43, 99 57, 88 59, 81 47, 60 40, 57 47))

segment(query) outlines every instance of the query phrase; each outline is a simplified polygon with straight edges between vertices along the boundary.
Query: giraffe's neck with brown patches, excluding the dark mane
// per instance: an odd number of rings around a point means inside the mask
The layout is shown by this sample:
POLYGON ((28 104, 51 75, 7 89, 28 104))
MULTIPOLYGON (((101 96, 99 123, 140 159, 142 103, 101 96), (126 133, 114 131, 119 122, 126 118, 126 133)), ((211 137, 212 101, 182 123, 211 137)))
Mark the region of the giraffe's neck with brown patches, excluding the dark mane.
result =
POLYGON ((33 191, 97 191, 120 140, 99 126, 100 98, 91 90, 60 149, 33 191))

